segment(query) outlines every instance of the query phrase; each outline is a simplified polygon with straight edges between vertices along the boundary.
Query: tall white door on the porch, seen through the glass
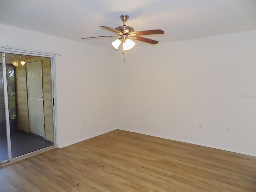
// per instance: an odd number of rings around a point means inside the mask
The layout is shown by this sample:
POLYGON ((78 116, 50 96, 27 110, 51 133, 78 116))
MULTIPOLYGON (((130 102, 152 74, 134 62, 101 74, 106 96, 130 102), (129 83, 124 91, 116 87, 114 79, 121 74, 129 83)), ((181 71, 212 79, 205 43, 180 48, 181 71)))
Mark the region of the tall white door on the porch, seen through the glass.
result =
POLYGON ((30 132, 45 137, 42 62, 26 63, 30 132))

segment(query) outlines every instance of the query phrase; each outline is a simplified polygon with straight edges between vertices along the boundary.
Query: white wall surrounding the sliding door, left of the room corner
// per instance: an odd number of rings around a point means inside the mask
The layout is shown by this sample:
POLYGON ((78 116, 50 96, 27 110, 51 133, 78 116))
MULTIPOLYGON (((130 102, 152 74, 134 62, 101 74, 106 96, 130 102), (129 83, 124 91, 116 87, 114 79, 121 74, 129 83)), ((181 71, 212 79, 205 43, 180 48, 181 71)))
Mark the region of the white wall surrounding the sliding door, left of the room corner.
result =
POLYGON ((56 56, 58 147, 115 129, 115 66, 111 49, 2 24, 0 31, 0 45, 62 54, 56 56))

